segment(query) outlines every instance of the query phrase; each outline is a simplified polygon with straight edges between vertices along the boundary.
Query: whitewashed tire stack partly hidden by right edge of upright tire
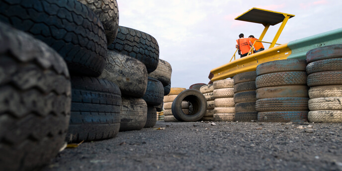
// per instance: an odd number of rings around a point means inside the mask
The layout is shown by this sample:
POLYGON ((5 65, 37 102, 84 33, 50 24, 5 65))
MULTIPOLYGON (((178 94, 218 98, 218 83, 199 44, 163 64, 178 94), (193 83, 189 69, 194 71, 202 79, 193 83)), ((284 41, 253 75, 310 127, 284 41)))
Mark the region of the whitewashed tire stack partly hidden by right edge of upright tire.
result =
POLYGON ((215 108, 215 98, 214 98, 214 86, 203 85, 200 87, 199 91, 204 95, 207 100, 207 111, 205 112, 202 120, 203 121, 214 121, 214 108, 215 108))

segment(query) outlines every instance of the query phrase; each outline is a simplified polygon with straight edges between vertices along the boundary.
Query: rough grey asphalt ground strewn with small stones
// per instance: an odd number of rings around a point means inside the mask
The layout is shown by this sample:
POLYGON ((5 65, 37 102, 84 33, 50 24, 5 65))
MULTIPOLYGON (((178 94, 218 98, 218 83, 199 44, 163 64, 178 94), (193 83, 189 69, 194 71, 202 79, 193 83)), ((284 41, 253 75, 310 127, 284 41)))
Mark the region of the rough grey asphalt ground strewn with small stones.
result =
POLYGON ((342 171, 341 132, 332 123, 157 121, 67 148, 42 171, 342 171))

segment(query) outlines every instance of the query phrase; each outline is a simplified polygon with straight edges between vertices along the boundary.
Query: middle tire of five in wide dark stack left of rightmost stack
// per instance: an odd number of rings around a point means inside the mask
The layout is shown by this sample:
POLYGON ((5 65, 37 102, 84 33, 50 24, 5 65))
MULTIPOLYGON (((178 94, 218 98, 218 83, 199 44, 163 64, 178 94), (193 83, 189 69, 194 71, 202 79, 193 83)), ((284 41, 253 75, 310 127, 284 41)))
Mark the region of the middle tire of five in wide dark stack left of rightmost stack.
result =
POLYGON ((271 86, 256 89, 256 99, 273 97, 309 97, 306 85, 271 86))

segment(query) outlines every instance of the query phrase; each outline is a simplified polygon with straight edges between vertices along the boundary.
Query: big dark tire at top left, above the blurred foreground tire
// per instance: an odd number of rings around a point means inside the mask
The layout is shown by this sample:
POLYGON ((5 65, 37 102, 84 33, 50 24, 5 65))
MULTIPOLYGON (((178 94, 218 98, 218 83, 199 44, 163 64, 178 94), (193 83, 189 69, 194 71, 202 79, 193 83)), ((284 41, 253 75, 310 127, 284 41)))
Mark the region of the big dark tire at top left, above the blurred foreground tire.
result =
POLYGON ((55 49, 71 73, 92 77, 102 73, 107 50, 104 29, 96 14, 81 2, 1 0, 0 20, 55 49))

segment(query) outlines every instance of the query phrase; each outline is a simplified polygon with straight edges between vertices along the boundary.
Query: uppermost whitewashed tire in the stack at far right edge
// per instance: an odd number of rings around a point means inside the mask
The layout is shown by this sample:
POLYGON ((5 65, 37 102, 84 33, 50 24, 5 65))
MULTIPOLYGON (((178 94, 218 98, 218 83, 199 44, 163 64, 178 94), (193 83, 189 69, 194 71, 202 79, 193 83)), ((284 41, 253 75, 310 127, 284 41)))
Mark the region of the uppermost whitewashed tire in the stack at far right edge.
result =
POLYGON ((314 86, 309 89, 310 98, 342 97, 342 85, 314 86))

